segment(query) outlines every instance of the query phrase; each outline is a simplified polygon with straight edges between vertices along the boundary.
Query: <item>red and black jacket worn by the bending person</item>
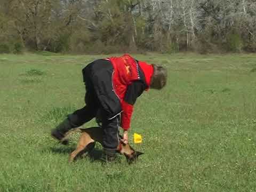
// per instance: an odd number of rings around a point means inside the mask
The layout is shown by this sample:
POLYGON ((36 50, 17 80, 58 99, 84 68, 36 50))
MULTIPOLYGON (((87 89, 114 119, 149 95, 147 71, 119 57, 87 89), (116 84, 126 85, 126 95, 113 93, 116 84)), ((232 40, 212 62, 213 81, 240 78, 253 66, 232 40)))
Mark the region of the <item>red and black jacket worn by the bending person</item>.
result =
POLYGON ((113 89, 122 108, 121 126, 128 130, 131 124, 133 105, 143 91, 147 91, 153 75, 153 66, 137 61, 129 54, 122 57, 107 58, 114 68, 112 75, 113 89))

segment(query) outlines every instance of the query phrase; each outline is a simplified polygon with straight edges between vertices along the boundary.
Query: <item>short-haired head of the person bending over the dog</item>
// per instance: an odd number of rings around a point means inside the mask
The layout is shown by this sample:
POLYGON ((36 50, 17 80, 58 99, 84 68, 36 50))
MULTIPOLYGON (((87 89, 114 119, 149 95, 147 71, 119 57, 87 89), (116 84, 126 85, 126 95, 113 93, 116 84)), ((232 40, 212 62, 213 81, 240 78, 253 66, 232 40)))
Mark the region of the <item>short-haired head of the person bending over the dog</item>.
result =
POLYGON ((164 67, 156 66, 153 64, 154 73, 151 77, 150 88, 161 90, 167 81, 167 70, 164 67))

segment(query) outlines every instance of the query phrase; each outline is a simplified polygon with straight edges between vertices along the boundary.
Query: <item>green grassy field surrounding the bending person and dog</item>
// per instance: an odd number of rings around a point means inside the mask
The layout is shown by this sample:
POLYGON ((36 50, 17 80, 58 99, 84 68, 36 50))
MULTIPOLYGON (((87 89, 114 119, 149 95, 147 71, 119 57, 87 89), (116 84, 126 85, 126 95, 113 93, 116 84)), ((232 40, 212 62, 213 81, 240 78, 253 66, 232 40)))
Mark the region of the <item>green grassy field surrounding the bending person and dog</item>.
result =
MULTIPOLYGON (((104 55, 0 55, 0 191, 256 191, 256 55, 147 54, 167 67, 163 91, 135 105, 136 164, 68 163, 50 137, 84 106, 82 68, 104 55)), ((95 125, 91 121, 84 125, 95 125)), ((101 146, 96 146, 97 150, 101 146)))

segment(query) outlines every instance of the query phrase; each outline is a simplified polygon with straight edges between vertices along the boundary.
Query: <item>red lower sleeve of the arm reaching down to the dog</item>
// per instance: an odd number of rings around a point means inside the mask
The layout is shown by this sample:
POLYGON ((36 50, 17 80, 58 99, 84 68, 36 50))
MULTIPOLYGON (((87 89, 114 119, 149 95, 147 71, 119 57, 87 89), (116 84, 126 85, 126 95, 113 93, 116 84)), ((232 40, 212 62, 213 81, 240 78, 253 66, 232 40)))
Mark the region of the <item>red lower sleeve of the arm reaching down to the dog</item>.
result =
POLYGON ((128 130, 131 125, 131 118, 132 118, 132 113, 133 113, 133 106, 123 100, 121 103, 122 105, 122 115, 121 115, 121 127, 124 130, 128 130))

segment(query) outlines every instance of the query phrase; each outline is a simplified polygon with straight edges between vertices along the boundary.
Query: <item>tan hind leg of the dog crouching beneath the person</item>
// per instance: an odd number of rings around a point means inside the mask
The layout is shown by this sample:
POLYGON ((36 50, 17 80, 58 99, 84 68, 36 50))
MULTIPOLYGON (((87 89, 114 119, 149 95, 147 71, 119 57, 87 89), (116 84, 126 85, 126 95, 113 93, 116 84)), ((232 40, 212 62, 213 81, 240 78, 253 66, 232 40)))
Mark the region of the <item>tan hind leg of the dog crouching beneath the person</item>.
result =
POLYGON ((95 146, 94 140, 86 132, 82 132, 81 137, 77 143, 76 150, 69 155, 69 162, 73 162, 78 156, 85 152, 89 153, 95 146))

